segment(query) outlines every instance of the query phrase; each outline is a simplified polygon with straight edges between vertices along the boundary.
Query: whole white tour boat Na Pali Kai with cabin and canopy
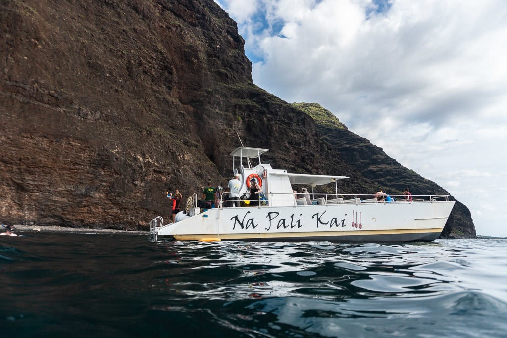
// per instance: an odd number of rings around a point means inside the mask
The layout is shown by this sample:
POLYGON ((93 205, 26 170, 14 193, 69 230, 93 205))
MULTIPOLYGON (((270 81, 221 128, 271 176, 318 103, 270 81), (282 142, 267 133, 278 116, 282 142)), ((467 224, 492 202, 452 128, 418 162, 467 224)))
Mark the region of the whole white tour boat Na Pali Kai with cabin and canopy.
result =
POLYGON ((197 195, 176 221, 164 224, 161 216, 150 222, 150 237, 157 240, 234 240, 262 242, 329 241, 335 243, 399 243, 432 241, 439 237, 454 206, 449 196, 394 197, 378 201, 374 195, 344 195, 338 181, 345 176, 288 173, 263 163, 268 149, 239 147, 233 171, 240 175, 247 194, 251 177, 262 187, 260 206, 199 208, 197 195), (252 162, 258 163, 252 165, 252 162), (311 200, 295 195, 298 185, 312 188, 311 200), (322 184, 334 184, 335 194, 317 194, 322 184))

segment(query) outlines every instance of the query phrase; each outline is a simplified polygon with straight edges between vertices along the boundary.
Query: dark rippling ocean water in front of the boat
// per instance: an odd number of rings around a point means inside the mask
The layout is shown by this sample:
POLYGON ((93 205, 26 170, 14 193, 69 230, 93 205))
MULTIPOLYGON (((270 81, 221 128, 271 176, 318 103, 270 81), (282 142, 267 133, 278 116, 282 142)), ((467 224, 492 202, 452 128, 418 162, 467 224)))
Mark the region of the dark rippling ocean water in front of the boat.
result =
POLYGON ((505 337, 507 240, 0 237, 0 337, 505 337))

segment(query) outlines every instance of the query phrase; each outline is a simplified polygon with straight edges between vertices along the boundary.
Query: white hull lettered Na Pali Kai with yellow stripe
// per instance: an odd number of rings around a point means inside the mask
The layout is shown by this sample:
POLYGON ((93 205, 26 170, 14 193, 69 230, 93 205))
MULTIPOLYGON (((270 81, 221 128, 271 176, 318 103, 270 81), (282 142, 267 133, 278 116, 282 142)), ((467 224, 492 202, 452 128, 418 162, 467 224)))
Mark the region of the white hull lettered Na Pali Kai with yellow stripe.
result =
POLYGON ((157 230, 176 240, 400 243, 439 237, 454 202, 210 209, 157 230))

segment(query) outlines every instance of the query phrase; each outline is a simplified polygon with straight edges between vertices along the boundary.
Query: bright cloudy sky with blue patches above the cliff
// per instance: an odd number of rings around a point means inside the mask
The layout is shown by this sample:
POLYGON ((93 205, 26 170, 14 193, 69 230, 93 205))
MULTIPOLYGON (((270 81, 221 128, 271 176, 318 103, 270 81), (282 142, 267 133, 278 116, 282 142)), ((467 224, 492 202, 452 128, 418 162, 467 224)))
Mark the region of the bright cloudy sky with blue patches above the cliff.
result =
POLYGON ((256 85, 319 103, 464 203, 478 235, 507 236, 504 0, 215 2, 256 85))

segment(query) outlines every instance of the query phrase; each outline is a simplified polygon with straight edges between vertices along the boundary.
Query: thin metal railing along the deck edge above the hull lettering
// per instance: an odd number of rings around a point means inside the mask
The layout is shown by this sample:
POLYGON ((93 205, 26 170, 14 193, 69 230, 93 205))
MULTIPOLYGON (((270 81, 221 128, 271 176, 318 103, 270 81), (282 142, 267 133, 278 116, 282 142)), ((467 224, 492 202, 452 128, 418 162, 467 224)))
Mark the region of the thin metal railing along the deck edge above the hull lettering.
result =
MULTIPOLYGON (((310 201, 308 201, 302 194, 294 193, 262 193, 258 195, 258 205, 251 206, 250 200, 240 199, 241 206, 250 207, 262 207, 269 206, 269 199, 267 196, 273 195, 285 195, 291 196, 286 199, 290 203, 292 201, 293 206, 304 206, 304 205, 336 205, 336 204, 369 204, 369 203, 427 203, 427 202, 448 202, 448 195, 385 195, 379 196, 374 194, 309 194, 310 201), (387 196, 390 199, 387 199, 387 196), (292 198, 292 200, 291 200, 292 198)), ((305 194, 306 195, 306 194, 305 194)), ((245 195, 243 195, 245 196, 245 195)), ((221 196, 219 201, 219 208, 225 208, 232 206, 233 200, 223 198, 221 196)), ((289 204, 290 205, 290 204, 289 204)))

